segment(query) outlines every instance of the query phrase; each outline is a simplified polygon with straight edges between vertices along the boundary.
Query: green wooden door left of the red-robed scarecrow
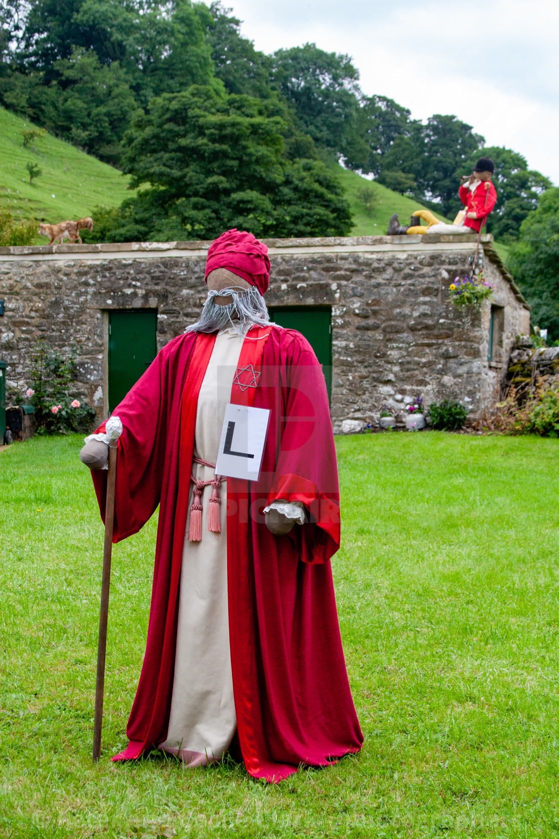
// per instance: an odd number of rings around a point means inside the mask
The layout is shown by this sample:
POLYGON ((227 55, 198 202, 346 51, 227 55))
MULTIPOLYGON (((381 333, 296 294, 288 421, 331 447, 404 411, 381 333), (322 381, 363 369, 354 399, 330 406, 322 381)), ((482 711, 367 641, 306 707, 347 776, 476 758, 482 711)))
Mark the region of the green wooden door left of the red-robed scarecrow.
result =
POLYGON ((153 362, 157 329, 157 311, 109 312, 109 413, 153 362))

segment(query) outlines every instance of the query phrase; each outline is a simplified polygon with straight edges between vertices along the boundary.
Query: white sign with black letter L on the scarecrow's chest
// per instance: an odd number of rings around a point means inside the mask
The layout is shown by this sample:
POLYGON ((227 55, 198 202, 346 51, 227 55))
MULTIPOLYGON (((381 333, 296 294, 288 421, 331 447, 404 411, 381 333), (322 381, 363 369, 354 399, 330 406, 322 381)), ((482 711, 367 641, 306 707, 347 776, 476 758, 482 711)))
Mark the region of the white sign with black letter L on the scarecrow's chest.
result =
POLYGON ((228 404, 215 474, 258 481, 269 421, 270 411, 267 408, 228 404))

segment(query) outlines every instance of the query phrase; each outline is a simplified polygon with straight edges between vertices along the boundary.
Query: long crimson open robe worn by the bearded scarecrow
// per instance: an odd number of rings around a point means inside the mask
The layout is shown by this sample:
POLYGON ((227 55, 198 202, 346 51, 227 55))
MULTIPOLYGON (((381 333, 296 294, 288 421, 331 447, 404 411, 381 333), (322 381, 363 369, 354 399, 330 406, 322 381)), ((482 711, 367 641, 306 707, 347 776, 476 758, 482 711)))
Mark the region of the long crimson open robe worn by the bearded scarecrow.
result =
MULTIPOLYGON (((137 758, 167 737, 196 400, 214 341, 192 332, 170 341, 114 411, 124 430, 113 541, 137 533, 160 508, 131 742, 113 759, 137 758)), ((258 385, 234 384, 231 401, 271 414, 261 480, 227 480, 231 669, 246 769, 279 781, 302 763, 324 766, 358 752, 363 735, 330 566, 339 548, 339 490, 322 369, 302 335, 277 328, 249 333, 238 369, 247 363, 261 373, 258 385), (273 536, 262 509, 277 498, 302 501, 310 521, 273 536)), ((106 472, 92 475, 104 518, 106 472)))

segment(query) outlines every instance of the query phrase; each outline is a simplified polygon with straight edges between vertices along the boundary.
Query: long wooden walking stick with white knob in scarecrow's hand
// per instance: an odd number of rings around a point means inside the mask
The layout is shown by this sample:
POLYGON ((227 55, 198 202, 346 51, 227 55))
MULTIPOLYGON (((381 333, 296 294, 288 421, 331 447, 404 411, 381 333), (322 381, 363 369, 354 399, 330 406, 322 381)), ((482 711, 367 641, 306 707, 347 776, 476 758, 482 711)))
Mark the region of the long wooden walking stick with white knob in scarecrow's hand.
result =
POLYGON ((115 513, 116 440, 122 434, 118 417, 106 421, 109 438, 109 474, 106 482, 105 545, 103 547, 103 576, 101 580, 101 608, 99 610, 99 641, 97 643, 97 679, 95 686, 95 722, 93 724, 93 762, 101 758, 101 729, 103 727, 103 693, 105 690, 106 625, 109 617, 109 588, 111 586, 112 523, 115 513))

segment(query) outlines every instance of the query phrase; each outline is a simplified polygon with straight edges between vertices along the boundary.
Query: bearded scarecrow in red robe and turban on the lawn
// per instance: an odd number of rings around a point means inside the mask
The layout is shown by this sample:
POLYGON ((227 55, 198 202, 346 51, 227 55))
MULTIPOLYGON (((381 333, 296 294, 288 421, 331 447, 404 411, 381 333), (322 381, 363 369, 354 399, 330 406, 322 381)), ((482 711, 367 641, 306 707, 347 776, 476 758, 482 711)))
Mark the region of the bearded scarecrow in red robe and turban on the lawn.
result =
MULTIPOLYGON (((242 755, 279 781, 363 743, 330 558, 339 491, 323 373, 308 341, 269 321, 266 245, 228 231, 208 252, 198 323, 158 353, 122 420, 113 541, 159 505, 146 653, 113 760, 152 748, 189 765, 242 755), (225 406, 269 409, 258 481, 215 474, 225 406)), ((87 438, 101 517, 105 426, 87 438)))

